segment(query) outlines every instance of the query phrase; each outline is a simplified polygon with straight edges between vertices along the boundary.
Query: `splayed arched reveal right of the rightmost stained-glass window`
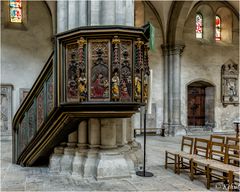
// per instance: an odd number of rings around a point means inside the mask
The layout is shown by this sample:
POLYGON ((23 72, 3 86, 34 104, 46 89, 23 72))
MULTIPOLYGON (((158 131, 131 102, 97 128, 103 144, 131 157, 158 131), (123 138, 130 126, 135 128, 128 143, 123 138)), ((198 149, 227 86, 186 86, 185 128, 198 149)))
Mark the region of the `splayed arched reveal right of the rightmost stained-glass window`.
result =
POLYGON ((221 41, 232 43, 233 17, 232 12, 227 7, 220 7, 216 15, 221 18, 221 41))

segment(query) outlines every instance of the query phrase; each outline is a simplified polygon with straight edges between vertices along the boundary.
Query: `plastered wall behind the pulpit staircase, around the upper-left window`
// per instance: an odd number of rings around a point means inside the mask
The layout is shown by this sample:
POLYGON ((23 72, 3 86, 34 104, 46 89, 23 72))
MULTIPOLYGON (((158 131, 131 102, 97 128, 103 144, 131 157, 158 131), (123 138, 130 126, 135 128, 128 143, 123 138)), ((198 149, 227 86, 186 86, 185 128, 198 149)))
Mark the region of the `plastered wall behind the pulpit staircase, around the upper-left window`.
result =
POLYGON ((14 115, 19 107, 20 89, 32 87, 53 50, 52 19, 44 2, 29 1, 25 29, 8 28, 4 23, 7 13, 3 7, 1 83, 13 85, 14 115))

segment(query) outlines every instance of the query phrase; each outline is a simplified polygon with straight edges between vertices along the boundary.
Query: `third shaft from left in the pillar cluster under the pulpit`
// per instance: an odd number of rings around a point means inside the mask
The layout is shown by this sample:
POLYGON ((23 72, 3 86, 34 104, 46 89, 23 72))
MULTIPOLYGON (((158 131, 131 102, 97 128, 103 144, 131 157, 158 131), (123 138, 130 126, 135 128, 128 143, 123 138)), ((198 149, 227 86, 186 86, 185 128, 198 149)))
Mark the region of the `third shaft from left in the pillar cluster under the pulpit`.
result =
POLYGON ((88 121, 88 143, 90 148, 99 147, 100 145, 100 120, 91 118, 88 121))

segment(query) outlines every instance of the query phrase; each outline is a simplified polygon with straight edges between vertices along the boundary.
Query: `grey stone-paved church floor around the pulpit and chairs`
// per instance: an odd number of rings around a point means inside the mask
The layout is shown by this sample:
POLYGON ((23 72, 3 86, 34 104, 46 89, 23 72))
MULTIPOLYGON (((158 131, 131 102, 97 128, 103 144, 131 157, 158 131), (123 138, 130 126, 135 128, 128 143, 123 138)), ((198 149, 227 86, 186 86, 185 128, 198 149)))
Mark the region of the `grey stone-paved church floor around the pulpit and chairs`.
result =
MULTIPOLYGON (((208 136, 207 136, 208 137, 208 136)), ((143 137, 137 141, 143 143, 143 137)), ((1 191, 208 191, 204 177, 190 181, 188 173, 180 175, 164 168, 166 149, 179 149, 181 137, 147 137, 147 171, 153 177, 96 181, 72 176, 51 175, 47 167, 21 167, 11 163, 11 140, 1 138, 1 191)), ((221 191, 219 185, 211 191, 221 191)))

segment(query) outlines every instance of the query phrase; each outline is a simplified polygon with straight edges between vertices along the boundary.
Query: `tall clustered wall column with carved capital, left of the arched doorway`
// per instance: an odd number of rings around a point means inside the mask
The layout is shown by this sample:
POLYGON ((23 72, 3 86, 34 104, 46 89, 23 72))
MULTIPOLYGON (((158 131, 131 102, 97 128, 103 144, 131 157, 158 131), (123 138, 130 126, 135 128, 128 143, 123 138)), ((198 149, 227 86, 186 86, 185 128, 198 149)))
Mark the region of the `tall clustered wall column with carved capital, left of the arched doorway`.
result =
POLYGON ((181 124, 181 54, 184 45, 163 45, 164 51, 164 123, 171 136, 182 134, 181 124), (167 73, 166 73, 167 72, 167 73), (168 77, 167 77, 168 76, 168 77))

